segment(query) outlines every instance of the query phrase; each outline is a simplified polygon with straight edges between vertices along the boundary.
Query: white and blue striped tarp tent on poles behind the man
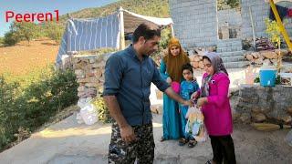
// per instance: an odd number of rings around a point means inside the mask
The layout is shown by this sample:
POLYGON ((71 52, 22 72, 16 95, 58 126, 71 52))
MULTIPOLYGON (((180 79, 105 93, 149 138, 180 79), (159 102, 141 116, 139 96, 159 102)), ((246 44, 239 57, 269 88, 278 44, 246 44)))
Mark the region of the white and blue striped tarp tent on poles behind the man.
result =
POLYGON ((158 26, 172 26, 173 24, 172 18, 138 15, 121 7, 119 12, 105 17, 69 19, 57 53, 57 66, 62 64, 64 56, 72 54, 69 52, 101 47, 123 49, 125 46, 124 34, 132 33, 143 22, 158 26))

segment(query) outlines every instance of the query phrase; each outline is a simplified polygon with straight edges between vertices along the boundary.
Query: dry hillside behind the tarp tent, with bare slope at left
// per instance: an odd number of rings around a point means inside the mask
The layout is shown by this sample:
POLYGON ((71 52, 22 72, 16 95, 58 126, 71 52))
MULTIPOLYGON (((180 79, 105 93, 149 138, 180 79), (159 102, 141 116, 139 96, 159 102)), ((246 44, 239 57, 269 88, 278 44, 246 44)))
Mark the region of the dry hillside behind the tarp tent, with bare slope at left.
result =
MULTIPOLYGON (((70 13, 74 18, 99 17, 110 15, 118 8, 130 10, 141 15, 168 17, 168 0, 122 0, 110 5, 101 7, 86 8, 70 13)), ((66 23, 67 15, 60 16, 60 23, 66 23)), ((48 25, 50 26, 50 25, 48 25)), ((36 39, 30 46, 23 41, 16 46, 0 47, 0 74, 10 72, 14 75, 25 75, 32 69, 37 69, 52 64, 57 56, 58 46, 52 40, 36 39)))

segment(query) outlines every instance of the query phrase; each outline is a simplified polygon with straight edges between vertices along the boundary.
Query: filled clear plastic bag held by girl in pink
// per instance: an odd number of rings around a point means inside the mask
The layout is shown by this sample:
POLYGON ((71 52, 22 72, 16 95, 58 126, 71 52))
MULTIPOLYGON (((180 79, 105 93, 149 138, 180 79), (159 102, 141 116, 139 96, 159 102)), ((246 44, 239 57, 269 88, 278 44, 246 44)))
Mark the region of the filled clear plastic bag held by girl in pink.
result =
POLYGON ((186 118, 188 121, 185 126, 185 132, 191 134, 198 142, 206 141, 207 133, 203 124, 203 113, 200 108, 188 108, 186 118))

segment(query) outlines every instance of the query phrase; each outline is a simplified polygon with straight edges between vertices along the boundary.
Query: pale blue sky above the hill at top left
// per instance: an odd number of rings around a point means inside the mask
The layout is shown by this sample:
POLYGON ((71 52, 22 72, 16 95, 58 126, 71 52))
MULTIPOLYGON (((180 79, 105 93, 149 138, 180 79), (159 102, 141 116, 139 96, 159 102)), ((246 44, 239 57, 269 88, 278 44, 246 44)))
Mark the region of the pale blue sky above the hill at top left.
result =
POLYGON ((5 22, 5 12, 10 10, 16 14, 53 13, 59 15, 78 11, 83 8, 108 5, 119 0, 0 0, 0 36, 9 30, 10 22, 5 22))

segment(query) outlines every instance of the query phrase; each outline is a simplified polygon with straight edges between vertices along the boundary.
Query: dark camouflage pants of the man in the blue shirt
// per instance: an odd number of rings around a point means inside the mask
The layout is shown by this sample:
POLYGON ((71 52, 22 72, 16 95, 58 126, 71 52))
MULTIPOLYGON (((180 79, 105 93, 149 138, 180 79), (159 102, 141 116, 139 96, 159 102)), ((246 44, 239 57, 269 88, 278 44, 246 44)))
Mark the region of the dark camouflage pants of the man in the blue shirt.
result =
POLYGON ((136 159, 139 164, 153 163, 155 144, 152 124, 132 128, 137 140, 127 144, 120 137, 118 124, 116 122, 112 124, 109 163, 131 164, 136 159))

